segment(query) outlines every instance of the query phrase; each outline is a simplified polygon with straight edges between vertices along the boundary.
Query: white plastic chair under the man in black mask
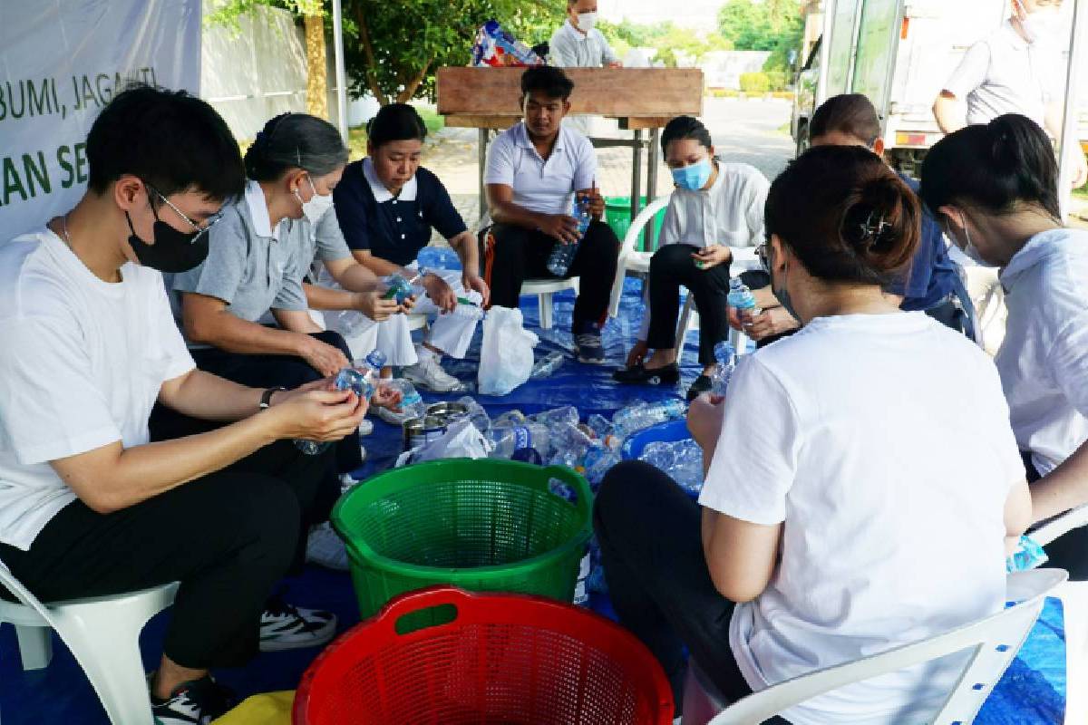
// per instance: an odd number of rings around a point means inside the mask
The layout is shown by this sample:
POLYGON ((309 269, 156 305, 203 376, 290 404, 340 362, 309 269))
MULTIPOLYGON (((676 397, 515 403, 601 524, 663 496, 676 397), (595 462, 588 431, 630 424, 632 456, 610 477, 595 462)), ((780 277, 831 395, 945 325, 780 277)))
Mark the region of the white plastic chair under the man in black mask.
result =
POLYGON ((21 603, 0 599, 0 622, 15 625, 23 670, 41 670, 52 659, 54 629, 72 651, 114 725, 150 725, 139 633, 170 607, 177 584, 109 597, 41 603, 0 562, 0 584, 21 603))

